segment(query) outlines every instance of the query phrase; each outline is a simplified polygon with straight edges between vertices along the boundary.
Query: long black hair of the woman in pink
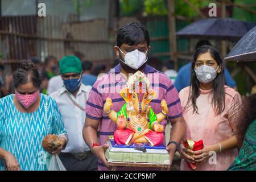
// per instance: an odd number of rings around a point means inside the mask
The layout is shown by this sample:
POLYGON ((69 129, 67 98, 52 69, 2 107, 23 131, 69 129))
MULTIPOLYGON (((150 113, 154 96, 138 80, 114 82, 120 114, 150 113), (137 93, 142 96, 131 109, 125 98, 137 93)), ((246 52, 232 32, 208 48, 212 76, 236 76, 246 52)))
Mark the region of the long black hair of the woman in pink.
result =
POLYGON ((224 75, 224 68, 222 65, 222 59, 220 56, 220 53, 217 51, 217 49, 213 48, 212 46, 201 46, 198 49, 196 49, 194 55, 193 55, 193 61, 192 61, 192 67, 191 67, 191 88, 189 92, 188 102, 186 107, 188 106, 188 103, 191 101, 193 106, 193 113, 197 113, 198 107, 196 105, 196 99, 200 95, 200 82, 196 77, 195 72, 195 64, 197 57, 201 55, 202 53, 209 52, 212 58, 217 62, 218 66, 221 67, 221 72, 217 73, 217 76, 213 80, 213 98, 212 98, 212 106, 216 114, 221 114, 222 111, 225 109, 225 75, 224 75))

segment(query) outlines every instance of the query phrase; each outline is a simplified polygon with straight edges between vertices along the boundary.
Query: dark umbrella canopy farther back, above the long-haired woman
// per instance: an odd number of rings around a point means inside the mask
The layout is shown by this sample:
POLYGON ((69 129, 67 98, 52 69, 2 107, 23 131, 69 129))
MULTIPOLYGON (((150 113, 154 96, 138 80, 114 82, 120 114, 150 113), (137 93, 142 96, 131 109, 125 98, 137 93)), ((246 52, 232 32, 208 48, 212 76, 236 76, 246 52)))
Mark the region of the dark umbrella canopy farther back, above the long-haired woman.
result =
POLYGON ((220 39, 237 41, 256 23, 233 18, 201 19, 176 32, 180 38, 220 39))

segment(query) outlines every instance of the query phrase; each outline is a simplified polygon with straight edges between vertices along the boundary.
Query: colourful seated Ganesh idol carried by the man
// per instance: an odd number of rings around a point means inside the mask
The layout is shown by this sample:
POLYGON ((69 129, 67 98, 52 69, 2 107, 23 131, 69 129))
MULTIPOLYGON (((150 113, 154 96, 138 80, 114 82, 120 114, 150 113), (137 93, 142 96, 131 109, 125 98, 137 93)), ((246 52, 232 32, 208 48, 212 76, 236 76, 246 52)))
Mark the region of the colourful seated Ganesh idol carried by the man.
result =
POLYGON ((127 88, 123 88, 120 94, 125 104, 118 113, 111 109, 113 103, 110 97, 106 98, 104 104, 105 114, 118 126, 118 130, 114 132, 114 141, 125 145, 162 144, 164 127, 160 122, 168 116, 167 103, 162 100, 162 111, 154 113, 150 102, 155 97, 155 91, 150 89, 150 81, 144 73, 138 71, 130 76, 127 88))

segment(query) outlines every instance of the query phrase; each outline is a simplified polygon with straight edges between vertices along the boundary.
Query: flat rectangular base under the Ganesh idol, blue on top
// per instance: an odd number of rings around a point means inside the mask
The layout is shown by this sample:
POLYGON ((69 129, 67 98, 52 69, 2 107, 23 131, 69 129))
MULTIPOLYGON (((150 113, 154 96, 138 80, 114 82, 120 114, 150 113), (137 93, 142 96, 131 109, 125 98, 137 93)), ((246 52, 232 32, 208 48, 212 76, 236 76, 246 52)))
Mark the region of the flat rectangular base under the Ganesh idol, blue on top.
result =
POLYGON ((108 162, 150 163, 170 166, 169 154, 163 144, 151 147, 148 144, 135 143, 126 146, 117 144, 114 140, 108 140, 107 143, 109 148, 106 150, 105 156, 108 162))

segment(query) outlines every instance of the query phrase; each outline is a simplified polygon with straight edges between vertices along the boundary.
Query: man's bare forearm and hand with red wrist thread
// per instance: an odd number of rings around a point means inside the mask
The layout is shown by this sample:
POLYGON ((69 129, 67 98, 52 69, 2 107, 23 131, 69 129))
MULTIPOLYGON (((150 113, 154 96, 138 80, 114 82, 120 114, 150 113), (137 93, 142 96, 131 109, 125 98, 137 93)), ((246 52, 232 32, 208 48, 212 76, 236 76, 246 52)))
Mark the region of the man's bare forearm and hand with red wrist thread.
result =
POLYGON ((82 137, 91 148, 93 154, 96 155, 97 158, 100 159, 106 167, 109 167, 108 162, 105 158, 105 150, 109 147, 109 145, 104 144, 103 146, 93 146, 93 143, 98 143, 97 129, 99 123, 100 120, 86 117, 84 127, 82 129, 82 137))

